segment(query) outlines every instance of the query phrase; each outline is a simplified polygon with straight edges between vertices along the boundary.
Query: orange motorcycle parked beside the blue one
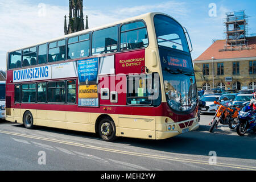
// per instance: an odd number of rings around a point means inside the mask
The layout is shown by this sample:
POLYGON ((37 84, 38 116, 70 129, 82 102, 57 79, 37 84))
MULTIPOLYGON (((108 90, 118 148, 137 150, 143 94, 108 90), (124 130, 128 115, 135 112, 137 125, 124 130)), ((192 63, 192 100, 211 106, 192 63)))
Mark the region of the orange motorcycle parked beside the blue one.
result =
POLYGON ((237 127, 238 113, 240 111, 240 108, 229 108, 224 105, 221 105, 220 102, 216 101, 214 101, 214 104, 217 104, 219 106, 216 111, 216 114, 212 119, 209 131, 212 133, 214 127, 217 128, 218 123, 221 123, 222 125, 229 125, 229 128, 234 130, 237 127))

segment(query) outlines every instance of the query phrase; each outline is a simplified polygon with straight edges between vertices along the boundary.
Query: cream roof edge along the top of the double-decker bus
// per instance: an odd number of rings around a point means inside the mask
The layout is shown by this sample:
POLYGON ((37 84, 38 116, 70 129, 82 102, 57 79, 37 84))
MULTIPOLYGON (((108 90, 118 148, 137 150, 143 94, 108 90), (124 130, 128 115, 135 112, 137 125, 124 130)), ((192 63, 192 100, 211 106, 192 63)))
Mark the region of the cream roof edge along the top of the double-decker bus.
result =
MULTIPOLYGON (((26 49, 26 48, 30 48, 30 47, 35 47, 35 46, 38 46, 38 45, 41 45, 41 44, 46 44, 48 42, 55 42, 56 40, 65 39, 65 38, 69 38, 69 37, 72 37, 72 36, 86 34, 87 32, 91 32, 91 31, 95 31, 95 30, 100 30, 100 29, 111 27, 111 26, 115 26, 115 25, 121 24, 121 23, 132 22, 132 21, 137 20, 137 19, 151 18, 151 17, 153 17, 156 14, 167 15, 167 14, 164 14, 164 13, 157 13, 157 12, 146 13, 146 14, 134 16, 134 17, 131 17, 131 18, 127 18, 127 19, 124 19, 124 20, 119 20, 119 21, 114 22, 114 23, 105 24, 103 26, 89 28, 87 30, 82 30, 82 31, 75 32, 75 33, 72 33, 72 34, 64 35, 64 36, 61 36, 59 38, 48 40, 48 41, 41 42, 41 43, 38 43, 38 44, 34 44, 34 45, 26 46, 26 47, 21 47, 21 48, 18 48, 18 49, 9 50, 7 53, 14 52, 14 51, 19 51, 20 49, 26 49)), ((167 15, 167 16, 170 16, 170 15, 167 15)), ((173 18, 172 16, 170 16, 170 17, 177 22, 177 20, 175 18, 173 18)), ((177 22, 177 23, 179 23, 179 22, 177 22)))

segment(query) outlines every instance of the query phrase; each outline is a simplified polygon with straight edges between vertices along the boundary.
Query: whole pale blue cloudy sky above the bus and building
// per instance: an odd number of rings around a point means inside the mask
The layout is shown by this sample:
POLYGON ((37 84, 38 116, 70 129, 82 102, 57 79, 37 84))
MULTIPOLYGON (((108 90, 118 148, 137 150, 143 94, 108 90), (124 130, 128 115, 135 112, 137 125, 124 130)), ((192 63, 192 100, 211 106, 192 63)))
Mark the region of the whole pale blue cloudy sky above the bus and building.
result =
MULTIPOLYGON (((6 52, 64 35, 64 15, 68 0, 0 0, 0 69, 5 70, 6 52), (42 13, 43 12, 43 13, 42 13)), ((246 10, 249 34, 256 33, 256 1, 185 1, 185 0, 84 0, 84 14, 89 27, 115 22, 135 15, 157 11, 169 14, 187 28, 196 59, 213 39, 224 38, 225 13, 246 10), (210 3, 216 5, 216 16, 209 16, 210 3)))

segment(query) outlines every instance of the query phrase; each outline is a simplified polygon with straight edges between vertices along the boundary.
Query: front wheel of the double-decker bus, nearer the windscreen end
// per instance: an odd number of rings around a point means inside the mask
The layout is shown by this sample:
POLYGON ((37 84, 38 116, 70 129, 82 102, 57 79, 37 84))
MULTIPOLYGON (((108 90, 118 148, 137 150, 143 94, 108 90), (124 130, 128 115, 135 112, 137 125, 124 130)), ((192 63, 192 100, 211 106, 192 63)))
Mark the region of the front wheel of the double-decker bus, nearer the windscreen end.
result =
POLYGON ((112 142, 117 139, 115 136, 115 131, 115 123, 112 121, 112 119, 104 118, 100 121, 98 125, 98 133, 105 141, 112 142))

